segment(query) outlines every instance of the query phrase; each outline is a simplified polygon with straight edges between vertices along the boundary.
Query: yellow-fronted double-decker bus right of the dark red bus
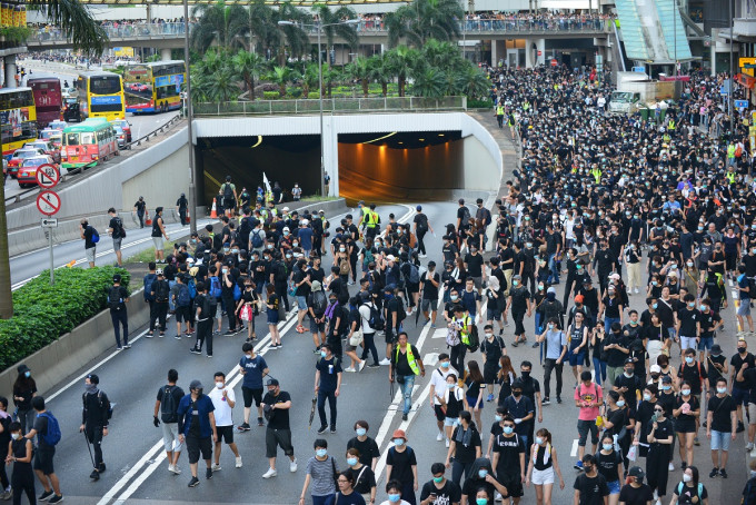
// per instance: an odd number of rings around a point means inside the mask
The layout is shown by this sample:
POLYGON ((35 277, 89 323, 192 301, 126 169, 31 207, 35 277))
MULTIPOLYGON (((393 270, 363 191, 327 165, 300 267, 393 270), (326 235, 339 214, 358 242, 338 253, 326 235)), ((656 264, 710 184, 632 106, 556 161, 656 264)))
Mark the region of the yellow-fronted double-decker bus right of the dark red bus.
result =
POLYGON ((125 119, 123 80, 112 72, 81 72, 76 81, 84 118, 125 119))

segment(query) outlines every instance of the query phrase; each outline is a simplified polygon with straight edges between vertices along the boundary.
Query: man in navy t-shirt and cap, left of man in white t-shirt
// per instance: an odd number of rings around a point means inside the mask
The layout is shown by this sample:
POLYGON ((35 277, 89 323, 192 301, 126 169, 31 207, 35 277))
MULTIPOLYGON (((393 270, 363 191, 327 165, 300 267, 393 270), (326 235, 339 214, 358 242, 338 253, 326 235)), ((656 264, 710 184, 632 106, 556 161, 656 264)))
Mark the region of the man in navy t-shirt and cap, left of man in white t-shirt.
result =
POLYGON ((210 397, 202 394, 202 383, 199 380, 195 379, 189 383, 189 394, 181 398, 177 410, 179 442, 187 444, 187 453, 189 454, 189 467, 191 468, 189 487, 199 486, 197 462, 199 462, 200 452, 207 466, 205 477, 212 478, 212 467, 210 466, 212 443, 218 442, 216 416, 212 414, 215 406, 210 397))

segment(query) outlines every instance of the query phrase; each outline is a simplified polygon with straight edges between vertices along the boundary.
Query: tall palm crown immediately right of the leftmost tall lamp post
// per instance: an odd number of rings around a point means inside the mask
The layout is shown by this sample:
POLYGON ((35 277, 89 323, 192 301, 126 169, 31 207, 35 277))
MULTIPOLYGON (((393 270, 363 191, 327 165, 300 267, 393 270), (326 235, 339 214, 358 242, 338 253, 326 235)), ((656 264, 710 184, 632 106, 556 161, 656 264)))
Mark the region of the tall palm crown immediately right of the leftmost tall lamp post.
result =
POLYGON ((191 43, 200 52, 207 51, 213 43, 232 49, 243 46, 241 37, 247 32, 247 11, 239 4, 226 6, 201 3, 191 10, 199 16, 199 22, 191 31, 191 43))

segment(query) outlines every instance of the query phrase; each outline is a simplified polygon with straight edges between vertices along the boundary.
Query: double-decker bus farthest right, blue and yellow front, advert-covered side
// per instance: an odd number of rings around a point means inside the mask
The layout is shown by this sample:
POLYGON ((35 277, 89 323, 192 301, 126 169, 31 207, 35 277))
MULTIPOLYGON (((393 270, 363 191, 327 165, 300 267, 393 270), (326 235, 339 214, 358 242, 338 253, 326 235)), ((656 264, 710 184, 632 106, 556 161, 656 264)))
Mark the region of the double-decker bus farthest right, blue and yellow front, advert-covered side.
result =
POLYGON ((141 113, 180 109, 186 76, 182 60, 128 66, 123 78, 126 111, 141 113))

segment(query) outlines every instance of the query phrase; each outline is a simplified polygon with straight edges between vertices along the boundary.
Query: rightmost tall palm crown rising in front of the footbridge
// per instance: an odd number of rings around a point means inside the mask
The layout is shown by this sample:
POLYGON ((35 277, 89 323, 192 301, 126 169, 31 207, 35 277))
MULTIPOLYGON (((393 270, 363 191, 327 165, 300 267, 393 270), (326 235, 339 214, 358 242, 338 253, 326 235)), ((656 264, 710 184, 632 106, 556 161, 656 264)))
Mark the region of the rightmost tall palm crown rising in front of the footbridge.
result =
POLYGON ((389 47, 396 47, 401 40, 418 48, 431 38, 456 40, 464 14, 457 0, 414 0, 385 16, 389 47))

